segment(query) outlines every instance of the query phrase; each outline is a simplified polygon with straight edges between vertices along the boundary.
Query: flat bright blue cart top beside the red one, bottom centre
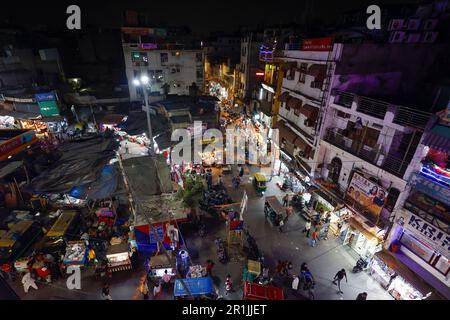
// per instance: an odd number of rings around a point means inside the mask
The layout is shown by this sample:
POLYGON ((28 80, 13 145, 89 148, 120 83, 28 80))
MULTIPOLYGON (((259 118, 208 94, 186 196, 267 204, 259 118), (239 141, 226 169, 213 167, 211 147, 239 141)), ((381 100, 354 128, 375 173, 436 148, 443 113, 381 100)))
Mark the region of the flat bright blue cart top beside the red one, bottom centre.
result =
POLYGON ((213 280, 211 277, 177 279, 173 295, 176 299, 215 295, 213 280))

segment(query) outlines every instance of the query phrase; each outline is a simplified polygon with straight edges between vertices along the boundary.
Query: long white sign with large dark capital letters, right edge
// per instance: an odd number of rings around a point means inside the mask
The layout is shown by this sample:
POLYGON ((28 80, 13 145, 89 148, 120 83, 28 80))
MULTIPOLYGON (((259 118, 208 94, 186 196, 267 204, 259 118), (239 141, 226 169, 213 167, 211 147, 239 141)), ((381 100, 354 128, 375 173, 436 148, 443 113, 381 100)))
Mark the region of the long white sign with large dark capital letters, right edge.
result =
POLYGON ((450 257, 450 235, 441 229, 408 210, 401 210, 396 222, 444 257, 450 257))

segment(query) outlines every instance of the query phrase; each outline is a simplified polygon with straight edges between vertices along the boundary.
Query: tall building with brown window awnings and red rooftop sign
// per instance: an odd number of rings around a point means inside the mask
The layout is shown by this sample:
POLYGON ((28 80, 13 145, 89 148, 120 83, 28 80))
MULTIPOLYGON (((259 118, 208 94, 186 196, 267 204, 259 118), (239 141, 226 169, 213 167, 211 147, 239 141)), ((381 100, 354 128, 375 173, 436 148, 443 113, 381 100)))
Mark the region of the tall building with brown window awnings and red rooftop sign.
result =
POLYGON ((284 77, 278 98, 278 122, 282 154, 292 165, 310 176, 318 161, 317 146, 325 113, 329 82, 339 46, 331 38, 303 40, 301 50, 292 45, 277 54, 284 77))

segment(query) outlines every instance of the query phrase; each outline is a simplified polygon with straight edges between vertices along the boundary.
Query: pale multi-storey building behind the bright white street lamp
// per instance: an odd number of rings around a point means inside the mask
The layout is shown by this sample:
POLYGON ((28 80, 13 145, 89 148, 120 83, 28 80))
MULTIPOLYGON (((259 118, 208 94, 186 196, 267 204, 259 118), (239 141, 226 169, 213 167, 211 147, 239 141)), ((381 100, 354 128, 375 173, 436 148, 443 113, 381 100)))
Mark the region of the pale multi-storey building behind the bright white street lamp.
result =
POLYGON ((150 78, 151 95, 188 95, 193 86, 204 90, 202 50, 169 39, 166 29, 122 28, 122 45, 132 101, 143 96, 143 88, 133 85, 142 74, 150 78))

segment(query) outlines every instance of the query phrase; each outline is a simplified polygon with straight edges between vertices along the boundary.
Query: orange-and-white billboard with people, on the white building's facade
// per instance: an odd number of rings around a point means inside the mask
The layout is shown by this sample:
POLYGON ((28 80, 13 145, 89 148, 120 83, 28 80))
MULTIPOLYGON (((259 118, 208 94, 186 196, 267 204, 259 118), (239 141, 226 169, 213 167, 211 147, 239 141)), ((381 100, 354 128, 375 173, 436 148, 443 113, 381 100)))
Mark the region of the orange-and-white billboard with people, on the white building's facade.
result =
POLYGON ((379 215, 386 201, 387 191, 355 172, 347 194, 375 215, 379 215))

